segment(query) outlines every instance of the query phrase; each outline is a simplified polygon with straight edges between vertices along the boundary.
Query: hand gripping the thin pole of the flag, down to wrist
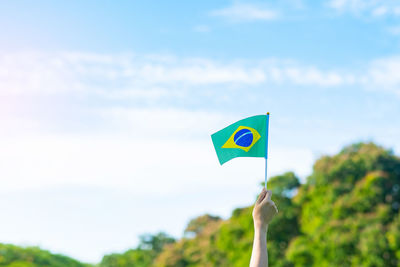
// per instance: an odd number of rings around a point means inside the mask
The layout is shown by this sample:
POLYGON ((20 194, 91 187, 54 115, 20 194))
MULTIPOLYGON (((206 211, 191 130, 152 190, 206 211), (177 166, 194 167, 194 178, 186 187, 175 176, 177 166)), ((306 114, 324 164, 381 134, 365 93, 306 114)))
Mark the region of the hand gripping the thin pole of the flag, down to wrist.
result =
POLYGON ((267 230, 268 223, 278 213, 275 203, 271 200, 272 192, 263 188, 253 209, 254 227, 267 230))

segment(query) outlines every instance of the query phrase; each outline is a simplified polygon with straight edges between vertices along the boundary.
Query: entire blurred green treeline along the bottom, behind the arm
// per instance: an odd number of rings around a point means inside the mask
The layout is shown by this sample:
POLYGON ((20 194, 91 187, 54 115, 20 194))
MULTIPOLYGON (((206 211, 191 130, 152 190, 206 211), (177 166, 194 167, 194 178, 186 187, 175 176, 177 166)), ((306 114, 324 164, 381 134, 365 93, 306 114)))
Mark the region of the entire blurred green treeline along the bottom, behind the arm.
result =
MULTIPOLYGON (((268 232, 270 266, 400 266, 400 158, 392 151, 353 144, 318 159, 304 184, 289 172, 269 179, 268 188, 279 208, 268 232)), ((97 266, 248 266, 251 211, 238 208, 228 220, 195 218, 179 240, 165 233, 142 236, 137 248, 106 255, 97 266)), ((0 266, 88 265, 35 248, 2 246, 0 266)))

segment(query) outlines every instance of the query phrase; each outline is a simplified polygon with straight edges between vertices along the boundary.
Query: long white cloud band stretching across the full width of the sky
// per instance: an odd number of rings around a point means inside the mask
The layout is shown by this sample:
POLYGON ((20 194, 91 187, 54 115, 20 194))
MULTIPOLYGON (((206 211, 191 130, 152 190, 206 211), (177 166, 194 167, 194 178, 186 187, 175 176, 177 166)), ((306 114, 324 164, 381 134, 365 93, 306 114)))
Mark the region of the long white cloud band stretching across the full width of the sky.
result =
POLYGON ((0 95, 96 96, 147 105, 193 99, 193 94, 212 93, 226 98, 229 88, 261 85, 360 85, 368 90, 386 88, 397 94, 398 62, 399 58, 393 56, 374 60, 364 68, 335 70, 288 60, 217 62, 164 55, 8 54, 0 55, 0 95), (216 88, 220 86, 223 89, 216 88))

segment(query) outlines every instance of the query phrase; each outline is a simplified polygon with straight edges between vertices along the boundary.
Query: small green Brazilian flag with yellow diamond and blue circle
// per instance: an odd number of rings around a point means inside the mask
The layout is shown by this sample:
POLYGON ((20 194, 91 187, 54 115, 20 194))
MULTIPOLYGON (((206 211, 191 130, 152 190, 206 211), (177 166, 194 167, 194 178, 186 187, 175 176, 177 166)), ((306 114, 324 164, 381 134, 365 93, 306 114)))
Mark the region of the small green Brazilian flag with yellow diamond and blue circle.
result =
POLYGON ((267 115, 257 115, 235 122, 211 135, 219 163, 237 157, 267 158, 267 115))

